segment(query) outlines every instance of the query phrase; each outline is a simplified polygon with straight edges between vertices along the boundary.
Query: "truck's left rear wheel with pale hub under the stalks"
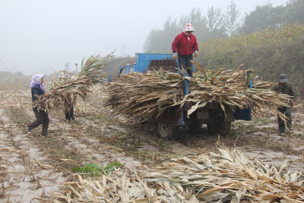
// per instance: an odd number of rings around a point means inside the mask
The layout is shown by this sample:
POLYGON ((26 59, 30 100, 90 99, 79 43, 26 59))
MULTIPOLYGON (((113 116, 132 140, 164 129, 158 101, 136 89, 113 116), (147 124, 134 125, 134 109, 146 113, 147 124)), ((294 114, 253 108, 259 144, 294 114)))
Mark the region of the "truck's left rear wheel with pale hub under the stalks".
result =
POLYGON ((158 131, 164 141, 179 140, 179 126, 169 123, 158 123, 158 131))

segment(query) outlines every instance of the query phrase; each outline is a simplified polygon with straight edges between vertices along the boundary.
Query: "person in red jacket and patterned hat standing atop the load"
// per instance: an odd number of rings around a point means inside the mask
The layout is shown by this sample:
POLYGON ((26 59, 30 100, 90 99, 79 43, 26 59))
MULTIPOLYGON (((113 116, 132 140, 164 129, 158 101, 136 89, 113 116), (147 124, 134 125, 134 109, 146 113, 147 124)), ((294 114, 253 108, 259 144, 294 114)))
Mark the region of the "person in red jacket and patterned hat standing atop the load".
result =
POLYGON ((192 77, 192 62, 189 59, 193 60, 193 53, 194 57, 197 57, 199 53, 199 46, 195 35, 192 34, 193 31, 192 24, 186 23, 181 34, 177 35, 172 43, 173 58, 178 60, 180 69, 181 66, 187 69, 189 77, 192 77))

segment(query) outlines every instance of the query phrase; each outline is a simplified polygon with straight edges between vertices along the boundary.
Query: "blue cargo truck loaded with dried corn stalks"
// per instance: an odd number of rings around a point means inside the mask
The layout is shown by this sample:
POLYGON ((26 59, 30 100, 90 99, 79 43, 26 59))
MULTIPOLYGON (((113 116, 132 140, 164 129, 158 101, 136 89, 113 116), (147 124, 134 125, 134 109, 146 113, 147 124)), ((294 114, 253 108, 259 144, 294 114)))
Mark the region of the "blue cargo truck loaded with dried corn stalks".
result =
MULTIPOLYGON (((136 53, 137 60, 124 64, 118 73, 127 74, 130 72, 146 73, 148 70, 165 70, 169 72, 178 72, 178 61, 173 59, 173 54, 143 54, 136 53)), ((192 71, 193 71, 192 67, 192 71)), ((185 73, 187 74, 187 73, 185 73)), ((247 72, 249 78, 250 72, 247 72)), ((109 82, 112 82, 109 77, 109 82)), ((252 87, 250 78, 249 87, 252 87)), ((183 81, 184 95, 188 94, 188 80, 183 81)), ((179 105, 170 107, 164 112, 162 117, 151 120, 158 123, 158 132, 163 140, 178 140, 180 138, 180 126, 188 126, 190 128, 200 128, 202 124, 207 124, 209 133, 227 135, 230 132, 231 122, 235 120, 251 120, 251 109, 237 109, 236 112, 224 104, 225 113, 217 102, 209 103, 202 108, 193 112, 189 118, 187 117, 188 105, 182 108, 179 105)))

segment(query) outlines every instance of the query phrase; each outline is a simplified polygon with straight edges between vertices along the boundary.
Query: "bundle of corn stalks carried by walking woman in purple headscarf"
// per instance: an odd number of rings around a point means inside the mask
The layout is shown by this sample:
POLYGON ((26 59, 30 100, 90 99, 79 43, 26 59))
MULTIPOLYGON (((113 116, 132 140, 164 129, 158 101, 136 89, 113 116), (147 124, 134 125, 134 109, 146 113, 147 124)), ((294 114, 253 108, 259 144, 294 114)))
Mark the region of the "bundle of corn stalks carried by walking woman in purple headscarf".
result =
MULTIPOLYGON (((76 102, 76 96, 88 98, 90 87, 96 83, 107 82, 106 73, 102 72, 102 67, 107 65, 107 60, 113 56, 113 53, 101 58, 99 55, 92 55, 83 64, 81 62, 81 71, 73 75, 64 82, 56 82, 53 78, 49 90, 50 98, 40 96, 34 103, 33 108, 38 107, 38 111, 54 111, 56 109, 66 110, 76 102)), ((76 66, 77 68, 77 66, 76 66)), ((66 73, 65 71, 63 71, 66 73)), ((55 74, 54 74, 55 75, 55 74)))

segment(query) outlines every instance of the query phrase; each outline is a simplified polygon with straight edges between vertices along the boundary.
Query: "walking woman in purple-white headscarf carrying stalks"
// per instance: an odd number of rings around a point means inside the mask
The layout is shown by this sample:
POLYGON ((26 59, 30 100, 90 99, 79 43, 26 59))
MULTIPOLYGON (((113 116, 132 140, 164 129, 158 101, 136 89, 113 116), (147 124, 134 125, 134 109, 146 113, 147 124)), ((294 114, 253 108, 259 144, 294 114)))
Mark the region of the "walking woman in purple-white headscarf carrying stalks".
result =
MULTIPOLYGON (((40 74, 36 74, 33 75, 31 82, 30 82, 30 88, 31 88, 31 92, 32 92, 32 101, 36 101, 38 99, 37 96, 46 96, 46 97, 50 97, 50 94, 46 94, 44 92, 44 87, 43 87, 43 81, 44 81, 44 76, 45 75, 40 75, 40 74)), ((41 132, 41 136, 43 137, 47 137, 47 129, 49 127, 49 115, 47 112, 40 110, 38 112, 37 107, 33 108, 33 112, 35 113, 36 116, 36 120, 33 121, 32 123, 29 123, 26 125, 26 132, 27 133, 31 133, 31 130, 33 128, 36 128, 38 126, 40 126, 42 124, 42 132, 41 132)))

